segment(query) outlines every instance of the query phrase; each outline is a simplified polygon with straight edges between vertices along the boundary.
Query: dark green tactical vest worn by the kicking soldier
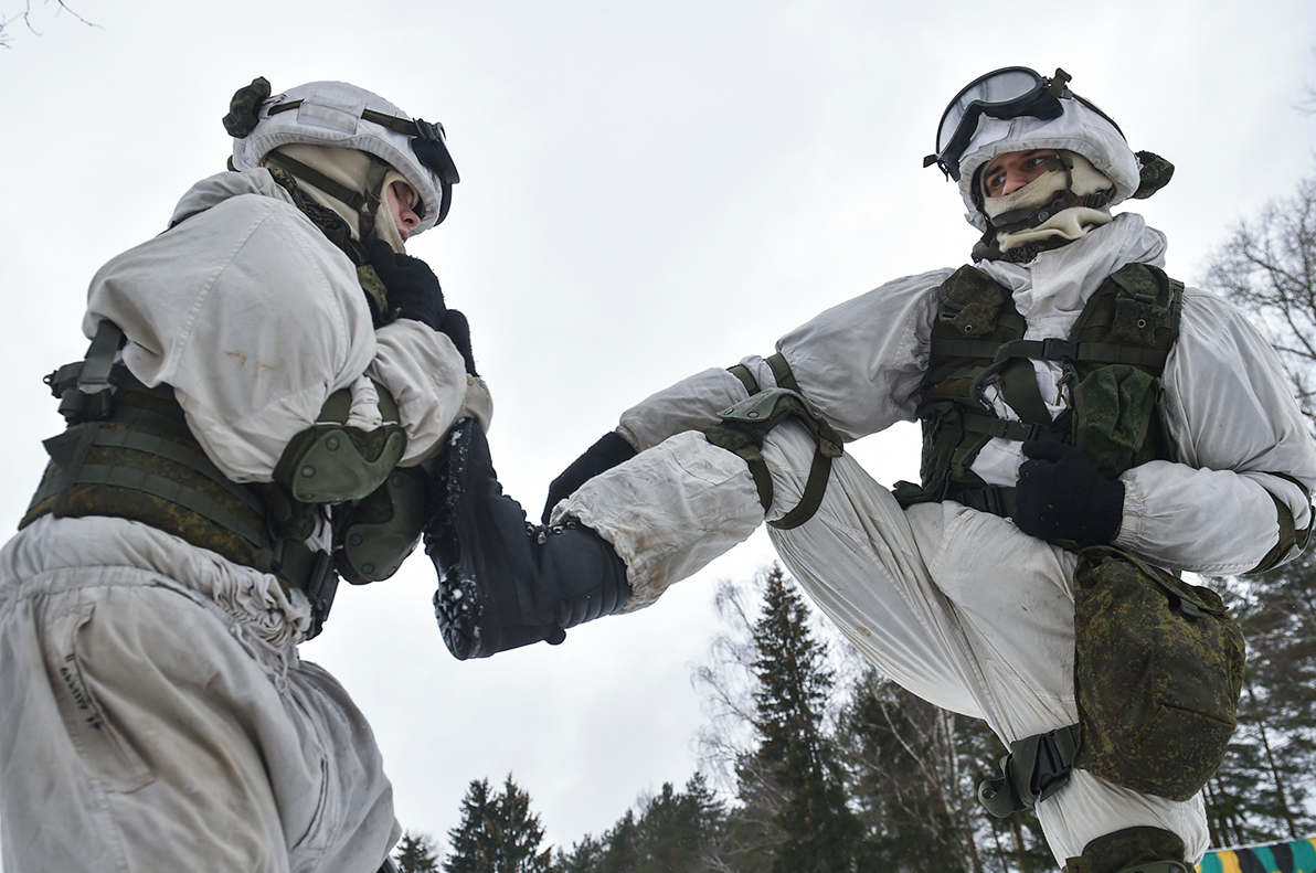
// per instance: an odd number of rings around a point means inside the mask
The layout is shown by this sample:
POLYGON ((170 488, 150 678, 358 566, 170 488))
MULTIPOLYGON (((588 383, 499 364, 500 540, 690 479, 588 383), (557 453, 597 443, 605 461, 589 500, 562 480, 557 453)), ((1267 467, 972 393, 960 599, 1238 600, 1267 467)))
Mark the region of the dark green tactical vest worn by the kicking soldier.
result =
POLYGON ((1149 264, 1125 264, 1088 298, 1067 339, 1023 339, 1026 323, 1007 288, 961 267, 937 289, 937 319, 923 380, 923 483, 898 483, 903 506, 954 500, 1011 515, 1015 489, 988 485, 970 468, 994 436, 1058 439, 1115 477, 1173 459, 1161 373, 1179 335, 1183 283, 1149 264), (1037 388, 1034 360, 1061 366, 1070 408, 1054 421, 1037 388), (995 383, 1020 421, 982 400, 995 383))

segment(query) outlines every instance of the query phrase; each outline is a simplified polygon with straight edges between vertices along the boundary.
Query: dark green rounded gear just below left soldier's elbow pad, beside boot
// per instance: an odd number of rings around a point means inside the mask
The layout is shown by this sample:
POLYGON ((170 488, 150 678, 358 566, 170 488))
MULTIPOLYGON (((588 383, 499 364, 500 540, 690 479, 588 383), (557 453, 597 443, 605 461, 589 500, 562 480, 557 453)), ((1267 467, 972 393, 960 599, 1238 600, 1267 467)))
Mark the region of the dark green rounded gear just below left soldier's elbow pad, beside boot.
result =
POLYGON ((399 467, 359 501, 334 507, 333 557, 353 585, 388 578, 425 529, 429 485, 417 467, 399 467))

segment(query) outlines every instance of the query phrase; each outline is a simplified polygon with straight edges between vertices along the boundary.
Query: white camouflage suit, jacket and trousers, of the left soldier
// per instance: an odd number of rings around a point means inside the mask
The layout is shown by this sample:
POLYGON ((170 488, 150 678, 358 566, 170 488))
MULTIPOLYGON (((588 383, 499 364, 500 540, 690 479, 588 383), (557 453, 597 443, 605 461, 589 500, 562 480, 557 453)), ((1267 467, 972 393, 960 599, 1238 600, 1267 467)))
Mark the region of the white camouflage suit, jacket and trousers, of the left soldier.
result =
MULTIPOLYGON (((270 481, 337 389, 378 427, 367 376, 399 401, 404 465, 471 412, 447 337, 374 329, 355 267, 268 172, 203 180, 183 218, 101 268, 83 329, 125 331, 128 367, 174 385, 230 479, 270 481)), ((346 692, 299 660, 308 627, 300 590, 153 527, 21 531, 0 552, 4 869, 379 869, 392 789, 346 692)))

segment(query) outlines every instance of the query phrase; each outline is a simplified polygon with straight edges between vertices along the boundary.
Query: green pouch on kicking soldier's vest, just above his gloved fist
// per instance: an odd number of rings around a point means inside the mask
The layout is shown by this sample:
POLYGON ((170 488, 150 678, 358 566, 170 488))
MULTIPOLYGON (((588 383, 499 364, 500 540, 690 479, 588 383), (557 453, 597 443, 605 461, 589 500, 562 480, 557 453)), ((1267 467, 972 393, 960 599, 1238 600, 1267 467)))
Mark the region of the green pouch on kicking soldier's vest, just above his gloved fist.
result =
POLYGON ((1165 458, 1165 390, 1161 380, 1130 364, 1109 364, 1074 389, 1074 444, 1113 479, 1165 458))

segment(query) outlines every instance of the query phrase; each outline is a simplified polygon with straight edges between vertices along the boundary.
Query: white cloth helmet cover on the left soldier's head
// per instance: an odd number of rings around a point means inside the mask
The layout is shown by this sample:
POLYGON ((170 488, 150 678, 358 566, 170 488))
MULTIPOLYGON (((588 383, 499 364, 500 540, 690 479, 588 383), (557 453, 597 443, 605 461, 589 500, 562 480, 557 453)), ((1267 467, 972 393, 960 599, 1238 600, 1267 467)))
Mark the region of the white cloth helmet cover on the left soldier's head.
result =
POLYGON ((379 95, 346 82, 311 82, 272 95, 261 103, 251 131, 233 139, 233 167, 259 167, 267 154, 288 143, 357 149, 400 172, 420 197, 425 214, 411 235, 429 230, 438 224, 445 183, 417 160, 409 135, 362 118, 366 109, 413 121, 379 95), (295 109, 279 112, 296 100, 301 103, 295 109))

